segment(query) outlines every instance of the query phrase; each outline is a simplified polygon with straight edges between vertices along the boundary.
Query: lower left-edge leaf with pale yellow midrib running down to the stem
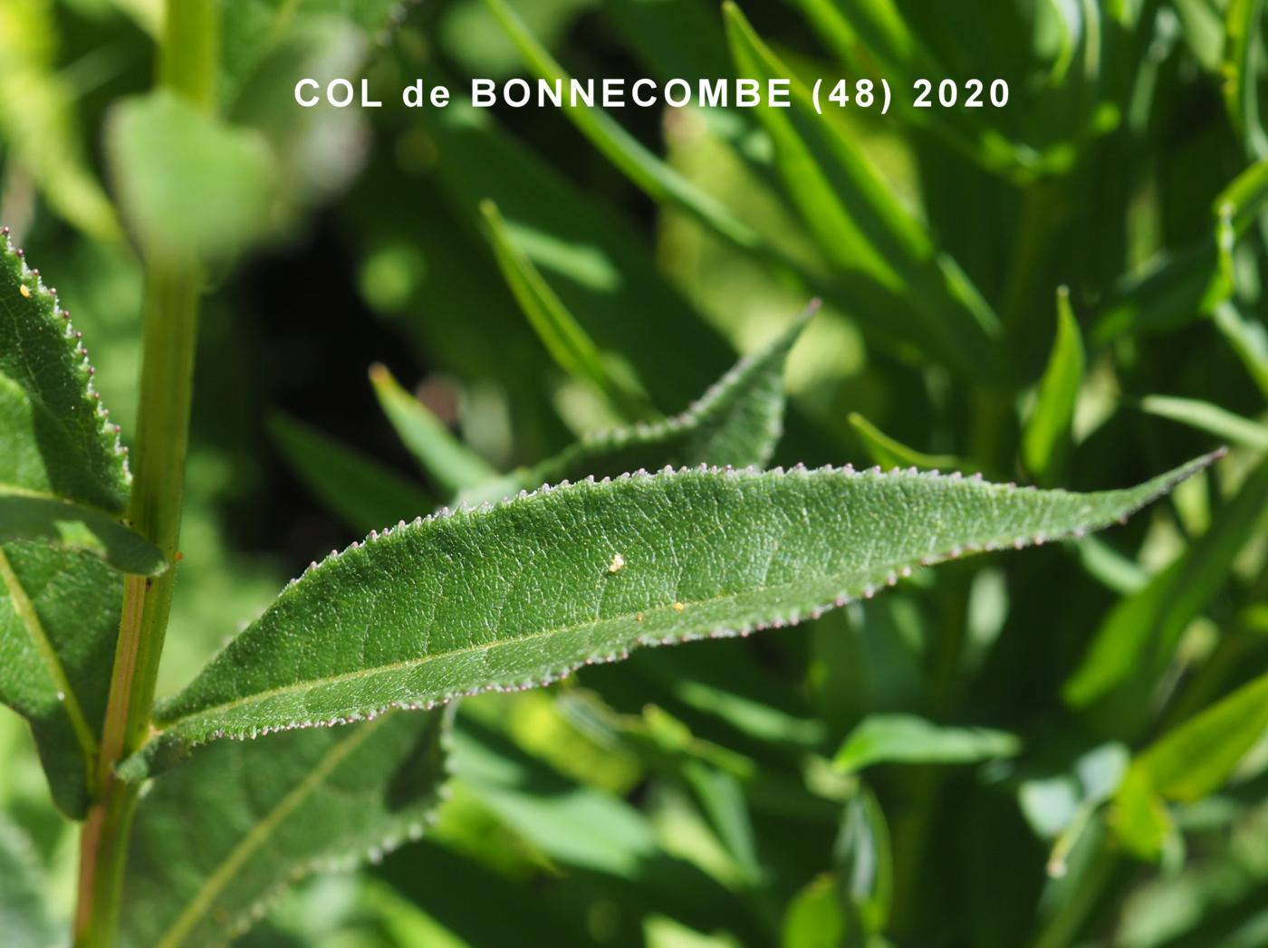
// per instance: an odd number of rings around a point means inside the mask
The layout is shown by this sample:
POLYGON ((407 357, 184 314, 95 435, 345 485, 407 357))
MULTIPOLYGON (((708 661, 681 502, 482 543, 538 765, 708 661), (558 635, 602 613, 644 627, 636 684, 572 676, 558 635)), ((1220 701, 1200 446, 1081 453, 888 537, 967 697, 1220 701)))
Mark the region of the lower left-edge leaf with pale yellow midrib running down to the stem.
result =
POLYGON ((0 546, 0 701, 30 722, 53 801, 87 809, 123 578, 84 553, 0 546))

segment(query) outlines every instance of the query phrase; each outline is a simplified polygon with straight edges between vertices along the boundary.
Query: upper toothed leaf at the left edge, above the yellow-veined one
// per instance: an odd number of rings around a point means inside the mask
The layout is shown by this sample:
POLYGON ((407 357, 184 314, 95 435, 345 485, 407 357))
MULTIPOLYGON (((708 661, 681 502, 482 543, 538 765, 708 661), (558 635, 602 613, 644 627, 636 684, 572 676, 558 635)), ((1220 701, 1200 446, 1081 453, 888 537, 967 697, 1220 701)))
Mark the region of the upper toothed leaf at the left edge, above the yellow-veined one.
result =
POLYGON ((84 549, 129 573, 162 554, 122 525, 129 477, 118 427, 57 293, 0 231, 0 542, 84 549))

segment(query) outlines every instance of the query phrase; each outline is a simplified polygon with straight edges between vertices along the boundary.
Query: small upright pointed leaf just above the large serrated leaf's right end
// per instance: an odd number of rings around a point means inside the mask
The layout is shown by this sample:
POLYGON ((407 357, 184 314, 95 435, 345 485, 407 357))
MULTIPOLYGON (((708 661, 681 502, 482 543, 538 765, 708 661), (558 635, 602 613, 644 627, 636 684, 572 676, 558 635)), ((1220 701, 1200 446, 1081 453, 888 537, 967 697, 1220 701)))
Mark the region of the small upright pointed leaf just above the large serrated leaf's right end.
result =
POLYGON ((1056 290, 1056 341, 1038 384, 1035 408, 1022 432, 1022 459, 1036 478, 1045 479, 1068 446, 1074 407, 1083 385, 1083 337, 1070 308, 1070 290, 1056 290))

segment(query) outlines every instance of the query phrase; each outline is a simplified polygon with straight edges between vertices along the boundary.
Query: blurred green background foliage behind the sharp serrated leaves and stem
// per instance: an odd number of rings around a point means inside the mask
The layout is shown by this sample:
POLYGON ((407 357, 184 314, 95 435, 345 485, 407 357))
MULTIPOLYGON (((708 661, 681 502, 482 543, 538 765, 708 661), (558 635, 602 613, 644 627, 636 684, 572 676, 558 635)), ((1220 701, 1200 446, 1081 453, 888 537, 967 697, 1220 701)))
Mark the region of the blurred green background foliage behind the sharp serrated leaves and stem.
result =
MULTIPOLYGON (((221 261, 164 691, 311 559, 680 411, 812 297, 776 463, 1103 488, 1232 449, 1103 539, 467 701, 434 831, 301 885, 245 942, 1268 944, 1262 14, 231 0, 210 122, 126 101, 155 0, 0 0, 0 218, 122 420, 120 221, 221 261), (363 74, 384 108, 292 100, 363 74), (538 75, 884 76, 895 101, 463 95, 538 75), (402 108, 417 77, 455 101, 402 108), (919 110, 919 77, 1011 96, 919 110)), ((5 859, 67 914, 72 834, 13 715, 0 811, 5 859)))

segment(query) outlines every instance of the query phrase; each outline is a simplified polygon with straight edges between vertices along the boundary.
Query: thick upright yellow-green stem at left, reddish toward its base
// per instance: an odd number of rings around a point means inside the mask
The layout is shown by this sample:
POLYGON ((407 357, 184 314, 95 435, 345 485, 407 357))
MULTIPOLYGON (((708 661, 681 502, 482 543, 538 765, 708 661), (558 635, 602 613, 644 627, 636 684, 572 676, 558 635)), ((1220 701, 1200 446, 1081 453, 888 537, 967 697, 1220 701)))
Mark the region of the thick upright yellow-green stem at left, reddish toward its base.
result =
MULTIPOLYGON (((219 60, 218 0, 169 0, 158 82, 204 112, 214 109, 219 60)), ((179 213, 179 212, 178 212, 179 213)), ((171 564, 156 578, 124 579, 119 640, 101 730, 95 802, 80 839, 75 944, 114 940, 128 833, 138 787, 114 765, 145 743, 153 708, 179 559, 180 511, 189 446, 194 343, 202 267, 194 260, 150 260, 142 326, 141 408, 127 520, 171 564)))

